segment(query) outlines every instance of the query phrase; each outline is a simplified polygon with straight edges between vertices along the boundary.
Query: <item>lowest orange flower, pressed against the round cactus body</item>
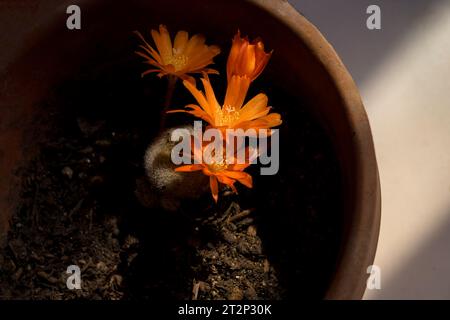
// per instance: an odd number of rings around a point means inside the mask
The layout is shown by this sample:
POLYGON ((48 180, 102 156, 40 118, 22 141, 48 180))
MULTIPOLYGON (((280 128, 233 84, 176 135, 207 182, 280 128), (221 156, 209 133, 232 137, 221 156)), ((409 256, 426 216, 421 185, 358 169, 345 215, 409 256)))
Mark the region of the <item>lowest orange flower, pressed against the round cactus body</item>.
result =
MULTIPOLYGON (((203 150, 200 150, 202 158, 203 150)), ((247 150, 246 153, 248 156, 249 151, 247 150)), ((248 188, 253 187, 252 176, 244 172, 245 168, 251 164, 251 160, 246 160, 244 164, 239 164, 236 157, 232 157, 231 159, 222 159, 217 162, 213 159, 210 161, 199 162, 201 163, 180 166, 175 168, 175 171, 191 172, 202 170, 205 175, 209 176, 211 194, 216 202, 219 199, 219 183, 229 186, 235 193, 237 193, 236 187, 234 186, 236 181, 248 188)))

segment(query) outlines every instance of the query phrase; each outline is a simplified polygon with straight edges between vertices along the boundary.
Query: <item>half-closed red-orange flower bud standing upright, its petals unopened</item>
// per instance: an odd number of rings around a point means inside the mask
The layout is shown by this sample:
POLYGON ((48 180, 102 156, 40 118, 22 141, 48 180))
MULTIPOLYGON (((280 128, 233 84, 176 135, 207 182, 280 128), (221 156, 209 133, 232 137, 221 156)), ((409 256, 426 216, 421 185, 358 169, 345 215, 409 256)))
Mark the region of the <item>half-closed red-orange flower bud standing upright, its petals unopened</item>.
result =
POLYGON ((233 38, 227 61, 227 78, 233 76, 247 77, 255 80, 267 65, 272 52, 264 52, 264 43, 260 39, 249 42, 248 37, 241 38, 238 31, 233 38))

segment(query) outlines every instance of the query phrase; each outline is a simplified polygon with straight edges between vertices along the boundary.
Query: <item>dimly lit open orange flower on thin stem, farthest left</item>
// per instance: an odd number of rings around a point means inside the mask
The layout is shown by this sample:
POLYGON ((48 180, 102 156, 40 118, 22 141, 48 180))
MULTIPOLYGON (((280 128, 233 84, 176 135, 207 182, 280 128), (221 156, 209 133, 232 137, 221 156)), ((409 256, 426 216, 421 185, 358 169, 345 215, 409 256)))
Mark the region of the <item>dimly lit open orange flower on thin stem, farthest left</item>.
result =
POLYGON ((144 63, 154 67, 143 72, 142 76, 159 72, 159 77, 174 75, 193 81, 189 73, 218 73, 206 66, 213 63, 213 58, 220 53, 220 49, 217 46, 207 46, 202 35, 196 34, 189 39, 186 31, 179 31, 172 45, 166 26, 160 25, 159 32, 151 30, 155 50, 138 31, 135 33, 143 41, 143 45, 139 46, 143 51, 136 51, 136 54, 146 60, 144 63))

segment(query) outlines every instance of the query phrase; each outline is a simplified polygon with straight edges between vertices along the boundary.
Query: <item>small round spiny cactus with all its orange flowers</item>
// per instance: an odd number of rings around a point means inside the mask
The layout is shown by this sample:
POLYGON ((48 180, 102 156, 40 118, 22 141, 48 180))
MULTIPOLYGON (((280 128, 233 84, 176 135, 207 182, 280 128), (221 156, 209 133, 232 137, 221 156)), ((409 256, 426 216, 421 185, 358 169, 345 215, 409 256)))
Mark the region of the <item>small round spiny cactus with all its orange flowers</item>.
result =
MULTIPOLYGON (((138 35, 144 41, 145 45, 140 47, 145 52, 137 53, 156 68, 147 70, 143 75, 159 71, 160 77, 168 75, 172 77, 171 79, 181 78, 184 86, 198 102, 198 105, 187 105, 187 110, 168 110, 173 92, 173 86, 169 86, 162 110, 163 118, 166 113, 189 113, 204 120, 208 124, 207 128, 217 129, 224 134, 227 129, 254 129, 266 130, 266 136, 270 136, 270 128, 281 124, 280 114, 270 112, 271 107, 267 105, 268 98, 264 93, 244 103, 251 83, 263 72, 272 55, 272 52, 265 52, 260 39, 250 42, 248 38, 241 38, 239 31, 233 38, 226 66, 228 86, 224 103, 220 105, 207 75, 216 72, 206 68, 212 63, 212 58, 220 52, 216 46, 204 45, 204 38, 198 36, 188 40, 185 31, 177 34, 172 46, 167 28, 160 26, 159 33, 152 30, 157 52, 139 33, 138 35), (181 56, 185 57, 182 66, 175 63, 181 56), (195 80, 192 76, 188 76, 188 73, 203 74, 201 81, 204 92, 196 88, 195 80)), ((163 127, 161 129, 164 129, 163 127)), ((194 136, 193 127, 185 128, 194 136)), ((161 206, 166 210, 177 210, 183 199, 198 198, 207 190, 208 185, 216 202, 219 198, 220 185, 229 186, 233 192, 237 192, 234 185, 236 181, 248 188, 253 187, 252 177, 244 170, 254 162, 247 159, 240 164, 229 163, 228 160, 235 160, 235 157, 225 155, 223 151, 220 155, 222 160, 205 164, 202 162, 205 151, 202 147, 200 163, 194 161, 194 164, 176 166, 172 162, 171 154, 177 142, 171 140, 171 132, 172 130, 162 131, 146 150, 144 160, 146 180, 138 183, 137 191, 142 203, 147 206, 161 206), (144 189, 147 191, 143 191, 144 189)), ((226 147, 225 140, 220 143, 226 147)))

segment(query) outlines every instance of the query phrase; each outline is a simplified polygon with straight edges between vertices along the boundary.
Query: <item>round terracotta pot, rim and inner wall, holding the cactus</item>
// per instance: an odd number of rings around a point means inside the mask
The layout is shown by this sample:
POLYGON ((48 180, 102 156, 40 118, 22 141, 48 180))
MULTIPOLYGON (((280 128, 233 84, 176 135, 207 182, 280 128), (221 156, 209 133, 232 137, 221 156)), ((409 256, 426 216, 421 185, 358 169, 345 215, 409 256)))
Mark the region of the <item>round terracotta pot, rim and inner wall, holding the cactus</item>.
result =
MULTIPOLYGON (((78 1, 80 3, 80 1, 78 1)), ((282 0, 81 2, 82 31, 65 28, 65 9, 34 13, 39 23, 0 79, 0 235, 15 209, 15 169, 33 155, 41 132, 37 102, 83 63, 98 39, 111 50, 130 31, 161 21, 231 38, 238 28, 263 35, 276 48, 269 72, 314 105, 333 140, 343 176, 345 217, 336 273, 325 298, 360 299, 373 263, 380 224, 380 185, 369 122, 358 89, 336 52, 302 15, 282 0)), ((128 40, 127 40, 128 39, 128 40)))

